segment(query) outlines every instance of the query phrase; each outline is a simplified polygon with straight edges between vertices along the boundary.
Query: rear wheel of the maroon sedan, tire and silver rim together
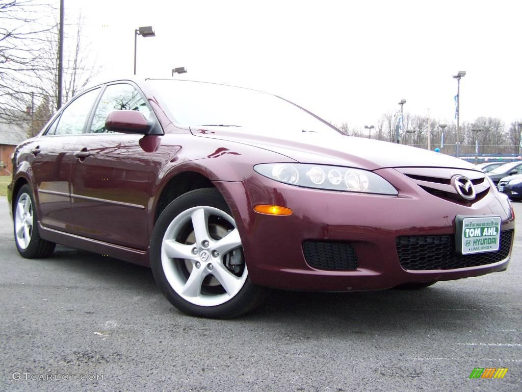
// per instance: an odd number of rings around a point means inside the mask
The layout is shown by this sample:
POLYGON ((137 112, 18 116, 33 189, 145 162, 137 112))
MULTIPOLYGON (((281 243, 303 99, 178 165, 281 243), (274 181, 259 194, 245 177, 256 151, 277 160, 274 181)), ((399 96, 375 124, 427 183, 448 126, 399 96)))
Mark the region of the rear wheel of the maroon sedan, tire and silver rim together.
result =
POLYGON ((26 259, 49 257, 55 243, 40 238, 38 216, 34 206, 31 187, 28 184, 20 188, 13 208, 13 227, 18 253, 26 259))

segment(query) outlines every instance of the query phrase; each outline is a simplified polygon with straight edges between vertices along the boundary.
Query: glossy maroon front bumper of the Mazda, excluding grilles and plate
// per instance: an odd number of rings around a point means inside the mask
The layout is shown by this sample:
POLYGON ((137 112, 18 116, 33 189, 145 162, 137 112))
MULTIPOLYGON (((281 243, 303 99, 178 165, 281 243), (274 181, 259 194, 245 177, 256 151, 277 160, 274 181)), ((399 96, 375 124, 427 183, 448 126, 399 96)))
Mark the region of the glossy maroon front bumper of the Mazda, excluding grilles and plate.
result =
POLYGON ((429 194, 394 169, 376 172, 394 184, 398 197, 300 188, 257 173, 243 182, 216 181, 240 230, 252 282, 288 290, 361 291, 468 278, 507 268, 509 256, 478 267, 401 268, 397 237, 454 235, 456 215, 497 215, 502 230, 514 229, 512 209, 493 189, 480 201, 464 206, 429 194), (293 214, 258 214, 253 210, 257 204, 286 206, 293 214), (305 240, 349 243, 357 252, 358 268, 312 268, 304 257, 305 240))

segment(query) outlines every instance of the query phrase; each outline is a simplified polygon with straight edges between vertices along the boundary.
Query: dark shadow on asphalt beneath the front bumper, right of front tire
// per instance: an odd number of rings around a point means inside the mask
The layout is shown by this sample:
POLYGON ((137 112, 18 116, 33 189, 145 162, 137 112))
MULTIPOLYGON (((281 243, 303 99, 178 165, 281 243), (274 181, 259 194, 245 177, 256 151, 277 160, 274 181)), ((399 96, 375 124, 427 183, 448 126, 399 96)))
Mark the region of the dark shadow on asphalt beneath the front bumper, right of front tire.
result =
MULTIPOLYGON (((303 293, 274 290, 251 322, 298 326, 301 334, 328 331, 329 336, 365 335, 383 331, 407 338, 420 331, 459 334, 481 328, 494 312, 491 293, 477 296, 467 280, 438 282, 419 291, 382 290, 354 293, 303 293)), ((424 333, 424 332, 423 332, 424 333)))

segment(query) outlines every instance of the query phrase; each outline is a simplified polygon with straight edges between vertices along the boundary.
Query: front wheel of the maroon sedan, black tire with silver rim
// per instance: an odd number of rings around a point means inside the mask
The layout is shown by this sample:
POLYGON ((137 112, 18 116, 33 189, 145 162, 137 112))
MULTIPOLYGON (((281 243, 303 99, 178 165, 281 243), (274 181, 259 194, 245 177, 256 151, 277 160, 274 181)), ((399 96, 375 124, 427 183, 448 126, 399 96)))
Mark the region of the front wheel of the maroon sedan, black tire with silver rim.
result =
POLYGON ((238 229, 215 188, 187 192, 163 210, 152 231, 150 262, 163 295, 191 316, 237 317, 266 294, 248 278, 238 229))

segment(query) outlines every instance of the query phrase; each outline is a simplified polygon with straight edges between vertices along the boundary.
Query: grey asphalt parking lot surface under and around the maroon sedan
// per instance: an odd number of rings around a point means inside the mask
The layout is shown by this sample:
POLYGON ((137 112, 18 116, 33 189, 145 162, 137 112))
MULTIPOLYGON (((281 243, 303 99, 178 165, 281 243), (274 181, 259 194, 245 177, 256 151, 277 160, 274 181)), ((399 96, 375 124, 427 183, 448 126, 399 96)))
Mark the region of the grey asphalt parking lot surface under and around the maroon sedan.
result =
POLYGON ((521 390, 514 209, 505 272, 413 292, 276 291, 222 321, 179 313, 147 268, 64 247, 21 258, 2 197, 0 390, 521 390), (475 367, 508 371, 470 379, 475 367))

